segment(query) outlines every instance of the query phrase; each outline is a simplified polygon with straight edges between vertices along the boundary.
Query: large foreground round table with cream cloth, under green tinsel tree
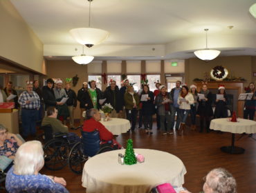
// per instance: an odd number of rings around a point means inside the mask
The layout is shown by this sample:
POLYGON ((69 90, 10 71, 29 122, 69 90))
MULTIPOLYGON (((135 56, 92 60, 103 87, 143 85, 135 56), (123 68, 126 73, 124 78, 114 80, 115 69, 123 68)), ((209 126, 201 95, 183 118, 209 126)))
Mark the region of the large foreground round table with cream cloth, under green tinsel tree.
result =
POLYGON ((183 162, 167 152, 134 149, 145 156, 144 163, 121 165, 114 150, 93 156, 84 164, 82 186, 86 192, 149 192, 156 185, 171 183, 180 187, 187 172, 183 162))

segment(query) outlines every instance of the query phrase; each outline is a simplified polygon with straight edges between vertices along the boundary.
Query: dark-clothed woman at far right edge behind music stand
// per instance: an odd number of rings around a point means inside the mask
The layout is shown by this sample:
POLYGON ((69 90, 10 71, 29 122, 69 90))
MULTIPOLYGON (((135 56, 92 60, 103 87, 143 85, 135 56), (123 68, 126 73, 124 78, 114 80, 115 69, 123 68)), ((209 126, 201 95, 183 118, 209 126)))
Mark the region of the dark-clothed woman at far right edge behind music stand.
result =
POLYGON ((244 119, 253 120, 255 115, 255 108, 256 108, 256 91, 255 91, 255 84, 250 83, 248 86, 248 89, 246 90, 246 93, 252 93, 253 96, 250 100, 245 100, 244 103, 244 119))

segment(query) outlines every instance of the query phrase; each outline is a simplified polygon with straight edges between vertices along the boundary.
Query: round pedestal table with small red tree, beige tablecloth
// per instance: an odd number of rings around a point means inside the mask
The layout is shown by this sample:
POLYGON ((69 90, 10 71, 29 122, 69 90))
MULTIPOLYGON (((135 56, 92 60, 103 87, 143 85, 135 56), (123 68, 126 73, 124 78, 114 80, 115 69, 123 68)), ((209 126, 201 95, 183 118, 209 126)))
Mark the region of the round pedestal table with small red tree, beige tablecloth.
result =
POLYGON ((256 132, 256 121, 248 119, 237 119, 238 122, 231 122, 227 118, 213 119, 210 122, 211 130, 220 130, 222 132, 231 132, 232 141, 231 146, 223 146, 221 150, 230 154, 243 154, 244 148, 239 148, 235 146, 235 133, 255 133, 256 132))

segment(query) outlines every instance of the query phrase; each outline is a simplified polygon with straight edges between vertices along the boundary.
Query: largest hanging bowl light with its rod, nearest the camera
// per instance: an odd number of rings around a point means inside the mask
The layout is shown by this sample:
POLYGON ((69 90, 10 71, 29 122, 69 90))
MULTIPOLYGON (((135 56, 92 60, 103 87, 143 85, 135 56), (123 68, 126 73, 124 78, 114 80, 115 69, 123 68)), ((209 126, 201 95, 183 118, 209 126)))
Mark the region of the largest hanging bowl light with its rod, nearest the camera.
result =
POLYGON ((106 30, 101 30, 98 28, 91 28, 91 1, 89 1, 89 28, 74 28, 70 30, 72 37, 78 43, 86 45, 91 48, 93 45, 102 43, 107 37, 109 37, 109 32, 106 30))

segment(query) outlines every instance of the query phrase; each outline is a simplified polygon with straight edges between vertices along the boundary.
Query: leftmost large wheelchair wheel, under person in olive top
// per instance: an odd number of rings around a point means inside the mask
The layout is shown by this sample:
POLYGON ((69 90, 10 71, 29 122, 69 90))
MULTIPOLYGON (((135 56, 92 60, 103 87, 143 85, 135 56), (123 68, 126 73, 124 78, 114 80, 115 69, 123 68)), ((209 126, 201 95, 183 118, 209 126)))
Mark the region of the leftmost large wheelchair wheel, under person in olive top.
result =
POLYGON ((61 170, 68 163, 68 143, 52 139, 44 145, 44 166, 48 170, 61 170))

